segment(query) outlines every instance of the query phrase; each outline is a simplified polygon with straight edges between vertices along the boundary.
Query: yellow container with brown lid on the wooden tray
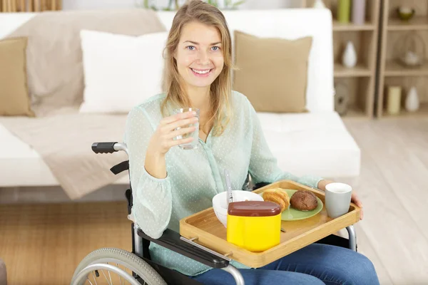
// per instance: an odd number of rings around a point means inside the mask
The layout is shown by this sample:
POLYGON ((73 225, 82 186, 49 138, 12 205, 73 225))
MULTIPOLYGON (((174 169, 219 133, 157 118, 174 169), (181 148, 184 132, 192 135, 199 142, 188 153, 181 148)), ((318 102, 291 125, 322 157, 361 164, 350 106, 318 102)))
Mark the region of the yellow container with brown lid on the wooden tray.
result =
POLYGON ((281 208, 265 201, 233 202, 228 207, 228 242, 263 252, 280 244, 281 208))

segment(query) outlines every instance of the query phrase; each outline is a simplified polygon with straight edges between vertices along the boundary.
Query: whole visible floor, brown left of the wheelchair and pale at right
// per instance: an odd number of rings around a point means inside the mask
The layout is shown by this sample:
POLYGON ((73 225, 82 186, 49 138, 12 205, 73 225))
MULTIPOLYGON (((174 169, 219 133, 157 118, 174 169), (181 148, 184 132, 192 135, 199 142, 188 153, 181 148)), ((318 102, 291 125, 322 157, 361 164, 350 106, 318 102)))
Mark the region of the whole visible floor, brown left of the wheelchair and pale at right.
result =
MULTIPOLYGON (((381 284, 428 284, 428 118, 345 119, 362 149, 348 182, 364 202, 359 250, 381 284)), ((131 247, 125 202, 0 204, 0 257, 9 284, 69 284, 100 247, 131 247)))

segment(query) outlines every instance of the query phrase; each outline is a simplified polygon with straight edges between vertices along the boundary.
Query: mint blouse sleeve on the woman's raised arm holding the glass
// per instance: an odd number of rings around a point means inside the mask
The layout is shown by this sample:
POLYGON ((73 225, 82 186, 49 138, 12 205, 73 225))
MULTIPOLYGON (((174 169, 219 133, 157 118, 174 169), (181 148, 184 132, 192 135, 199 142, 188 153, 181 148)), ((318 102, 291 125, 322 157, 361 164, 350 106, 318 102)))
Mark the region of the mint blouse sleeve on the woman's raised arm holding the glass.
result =
POLYGON ((136 224, 153 239, 168 227, 172 209, 170 178, 158 179, 144 167, 148 142, 154 130, 146 110, 133 108, 126 120, 125 142, 133 192, 132 215, 136 224))

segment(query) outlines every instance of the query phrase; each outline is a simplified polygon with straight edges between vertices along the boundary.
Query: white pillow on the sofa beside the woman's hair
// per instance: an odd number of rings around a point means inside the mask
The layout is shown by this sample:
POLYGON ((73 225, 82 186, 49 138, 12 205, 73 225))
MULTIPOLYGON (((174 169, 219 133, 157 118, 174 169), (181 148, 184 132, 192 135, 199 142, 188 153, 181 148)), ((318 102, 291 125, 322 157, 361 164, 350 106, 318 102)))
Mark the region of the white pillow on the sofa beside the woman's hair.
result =
POLYGON ((128 113, 162 92, 168 32, 126 36, 82 30, 85 90, 81 113, 128 113))

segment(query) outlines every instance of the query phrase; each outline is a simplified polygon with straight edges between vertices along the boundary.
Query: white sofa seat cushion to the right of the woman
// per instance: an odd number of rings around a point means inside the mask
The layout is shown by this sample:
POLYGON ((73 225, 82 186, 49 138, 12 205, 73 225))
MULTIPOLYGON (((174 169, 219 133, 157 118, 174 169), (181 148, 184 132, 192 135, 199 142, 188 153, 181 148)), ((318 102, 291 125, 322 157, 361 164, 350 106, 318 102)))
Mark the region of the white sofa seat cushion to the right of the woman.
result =
POLYGON ((295 175, 356 177, 360 148, 337 113, 258 113, 278 165, 295 175))

